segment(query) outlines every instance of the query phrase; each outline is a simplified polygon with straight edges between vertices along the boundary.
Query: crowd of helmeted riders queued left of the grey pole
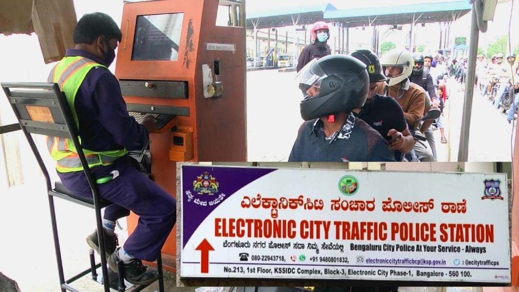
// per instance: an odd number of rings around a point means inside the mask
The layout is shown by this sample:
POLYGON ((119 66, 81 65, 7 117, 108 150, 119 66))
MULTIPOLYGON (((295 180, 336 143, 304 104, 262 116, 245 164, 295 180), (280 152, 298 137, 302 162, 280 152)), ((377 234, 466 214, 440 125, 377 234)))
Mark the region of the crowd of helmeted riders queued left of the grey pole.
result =
POLYGON ((436 161, 433 130, 448 142, 443 110, 456 62, 405 49, 331 54, 328 24, 311 34, 297 64, 305 122, 289 161, 436 161))

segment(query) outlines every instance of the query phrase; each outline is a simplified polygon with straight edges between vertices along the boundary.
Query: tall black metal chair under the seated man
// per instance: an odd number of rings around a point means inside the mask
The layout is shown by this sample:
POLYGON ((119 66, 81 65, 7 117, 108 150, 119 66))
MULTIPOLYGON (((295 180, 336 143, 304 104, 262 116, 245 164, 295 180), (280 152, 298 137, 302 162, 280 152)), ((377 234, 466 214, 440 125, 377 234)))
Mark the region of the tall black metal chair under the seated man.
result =
MULTIPOLYGON (((61 259, 60 243, 58 237, 58 228, 56 222, 56 213, 54 211, 54 197, 60 197, 63 200, 67 200, 76 204, 80 204, 86 207, 93 208, 95 210, 95 219, 97 222, 99 247, 101 255, 105 254, 105 242, 103 236, 103 225, 101 217, 101 209, 111 205, 112 202, 103 200, 99 196, 97 183, 93 178, 90 168, 87 166, 87 160, 81 144, 78 139, 78 130, 72 117, 72 112, 69 108, 63 92, 61 92, 58 84, 56 83, 1 83, 2 88, 5 91, 7 99, 12 106, 13 111, 18 118, 20 127, 29 142, 29 145, 36 157, 39 167, 42 169, 47 183, 47 193, 50 207, 50 217, 52 221, 52 233, 54 237, 54 248, 56 249, 56 259, 58 262, 58 273, 60 279, 61 290, 79 292, 76 288, 71 286, 72 282, 79 278, 92 274, 94 280, 97 279, 96 269, 101 266, 103 275, 104 291, 110 291, 110 277, 108 276, 108 269, 106 267, 106 258, 101 256, 101 263, 95 264, 93 250, 90 250, 90 268, 71 277, 69 280, 65 280, 63 274, 63 263, 61 259), (77 154, 83 165, 83 170, 87 177, 88 183, 92 190, 92 197, 85 198, 75 195, 72 191, 66 189, 61 182, 56 182, 54 189, 51 187, 49 172, 43 163, 42 156, 40 155, 36 144, 34 143, 31 134, 40 134, 61 138, 72 139, 74 146, 76 147, 77 154), (87 167, 85 167, 87 166, 87 167)), ((126 290, 125 282, 123 279, 122 264, 119 263, 119 283, 117 289, 121 292, 126 290)), ((163 272, 162 272, 162 258, 159 253, 157 257, 157 268, 158 268, 158 281, 159 290, 164 291, 163 283, 163 272)), ((132 291, 140 291, 146 288, 148 285, 141 285, 133 289, 132 291)))

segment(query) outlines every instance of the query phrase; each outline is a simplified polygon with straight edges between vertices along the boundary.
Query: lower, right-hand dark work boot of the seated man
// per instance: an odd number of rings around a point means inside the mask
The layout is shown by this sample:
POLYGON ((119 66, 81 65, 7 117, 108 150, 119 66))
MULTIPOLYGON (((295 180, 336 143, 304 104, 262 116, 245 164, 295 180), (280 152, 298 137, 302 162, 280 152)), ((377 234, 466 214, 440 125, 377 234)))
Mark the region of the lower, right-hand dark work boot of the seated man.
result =
MULTIPOLYGON (((114 253, 108 258, 108 266, 112 271, 118 273, 117 263, 121 260, 119 259, 119 251, 118 247, 114 253)), ((126 281, 132 283, 133 285, 147 285, 153 283, 158 278, 158 273, 153 270, 148 270, 148 267, 142 264, 142 261, 138 258, 133 258, 128 263, 122 263, 124 269, 124 277, 126 281)))

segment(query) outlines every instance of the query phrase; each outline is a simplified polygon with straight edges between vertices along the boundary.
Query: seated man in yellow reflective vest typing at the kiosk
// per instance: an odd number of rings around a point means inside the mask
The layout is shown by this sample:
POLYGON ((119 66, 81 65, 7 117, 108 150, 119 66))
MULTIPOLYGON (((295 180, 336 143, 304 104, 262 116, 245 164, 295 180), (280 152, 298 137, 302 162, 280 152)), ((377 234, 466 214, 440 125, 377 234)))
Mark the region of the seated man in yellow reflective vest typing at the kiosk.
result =
MULTIPOLYGON (((103 217, 108 264, 117 272, 117 262, 122 261, 126 280, 139 285, 157 278, 141 260, 156 260, 175 224, 176 201, 141 174, 127 155, 144 147, 148 132, 156 125, 153 118, 138 124, 128 115, 119 83, 107 69, 120 41, 121 31, 110 16, 100 12, 85 15, 74 30, 75 48, 67 49, 48 82, 58 83, 65 92, 100 195, 114 203, 106 207, 103 217), (140 216, 139 223, 124 246, 117 247, 115 222, 128 216, 130 210, 140 216)), ((71 141, 49 137, 47 145, 65 187, 91 197, 71 141)), ((99 253, 98 242, 97 231, 87 237, 88 245, 99 253)))

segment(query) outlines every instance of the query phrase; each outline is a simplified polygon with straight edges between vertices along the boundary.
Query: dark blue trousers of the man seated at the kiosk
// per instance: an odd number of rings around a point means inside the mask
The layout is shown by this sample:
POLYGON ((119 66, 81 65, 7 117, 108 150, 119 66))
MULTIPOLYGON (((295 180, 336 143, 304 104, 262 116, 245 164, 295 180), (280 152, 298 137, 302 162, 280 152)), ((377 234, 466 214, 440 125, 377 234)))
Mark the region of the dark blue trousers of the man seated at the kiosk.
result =
POLYGON ((98 184, 99 193, 114 204, 107 206, 104 219, 115 221, 130 210, 139 222, 124 244, 138 259, 155 261, 176 221, 176 200, 134 167, 119 167, 119 176, 98 184))

